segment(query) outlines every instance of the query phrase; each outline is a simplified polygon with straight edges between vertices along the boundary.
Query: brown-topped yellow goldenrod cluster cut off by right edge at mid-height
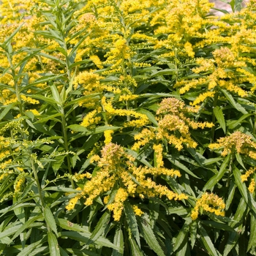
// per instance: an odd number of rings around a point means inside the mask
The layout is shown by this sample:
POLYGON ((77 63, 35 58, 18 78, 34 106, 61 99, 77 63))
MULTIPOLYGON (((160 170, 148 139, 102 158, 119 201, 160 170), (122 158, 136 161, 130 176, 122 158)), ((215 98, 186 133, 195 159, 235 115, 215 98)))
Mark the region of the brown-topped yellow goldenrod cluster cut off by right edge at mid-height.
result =
POLYGON ((230 153, 238 153, 256 159, 256 143, 252 141, 249 135, 240 131, 219 138, 217 143, 211 143, 208 147, 211 149, 222 149, 222 157, 230 153))

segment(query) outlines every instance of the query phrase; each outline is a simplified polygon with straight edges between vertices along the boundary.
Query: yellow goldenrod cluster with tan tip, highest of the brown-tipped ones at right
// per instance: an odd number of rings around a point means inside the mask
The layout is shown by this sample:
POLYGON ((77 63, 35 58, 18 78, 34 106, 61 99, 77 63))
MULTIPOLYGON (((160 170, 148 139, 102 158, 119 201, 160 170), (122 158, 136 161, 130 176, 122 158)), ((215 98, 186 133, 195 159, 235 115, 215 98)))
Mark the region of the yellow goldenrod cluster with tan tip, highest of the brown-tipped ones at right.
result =
POLYGON ((240 97, 246 97, 248 93, 241 89, 239 84, 245 81, 255 84, 255 77, 252 78, 252 74, 249 75, 249 78, 244 76, 246 71, 241 67, 246 67, 245 61, 239 60, 230 48, 214 50, 213 56, 214 59, 197 59, 196 62, 199 67, 192 69, 196 74, 204 75, 203 78, 182 80, 176 83, 176 87, 180 87, 181 94, 190 89, 201 89, 202 86, 207 88, 192 102, 192 105, 198 105, 206 98, 214 97, 219 89, 226 89, 240 97), (234 72, 236 72, 236 75, 234 75, 234 72))

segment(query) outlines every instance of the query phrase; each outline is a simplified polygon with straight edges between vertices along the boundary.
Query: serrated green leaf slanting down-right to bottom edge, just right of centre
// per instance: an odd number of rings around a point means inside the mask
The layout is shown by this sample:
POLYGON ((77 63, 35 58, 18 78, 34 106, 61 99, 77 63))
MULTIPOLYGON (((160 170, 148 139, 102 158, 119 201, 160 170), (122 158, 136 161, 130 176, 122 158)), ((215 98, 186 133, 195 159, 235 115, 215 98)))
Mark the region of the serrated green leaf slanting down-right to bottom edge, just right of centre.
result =
POLYGON ((143 238, 146 240, 148 246, 158 255, 165 256, 159 242, 157 241, 156 236, 154 235, 154 231, 151 228, 148 218, 146 218, 146 214, 143 214, 143 217, 140 217, 141 222, 138 222, 138 226, 140 227, 140 232, 143 238))

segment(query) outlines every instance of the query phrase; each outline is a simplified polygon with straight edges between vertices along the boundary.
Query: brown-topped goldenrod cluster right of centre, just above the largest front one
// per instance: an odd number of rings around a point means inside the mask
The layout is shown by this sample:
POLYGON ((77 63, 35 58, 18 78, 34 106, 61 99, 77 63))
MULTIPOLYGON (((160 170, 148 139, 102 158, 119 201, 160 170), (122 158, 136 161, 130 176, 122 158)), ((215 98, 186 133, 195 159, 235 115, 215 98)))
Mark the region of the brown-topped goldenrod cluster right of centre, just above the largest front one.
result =
POLYGON ((186 106, 184 102, 176 98, 163 99, 157 110, 158 127, 149 130, 145 128, 135 140, 138 140, 132 149, 138 150, 141 146, 154 140, 167 140, 167 143, 175 146, 180 151, 183 144, 195 148, 197 143, 192 140, 189 128, 211 128, 214 124, 208 122, 195 122, 189 117, 191 113, 195 113, 196 108, 186 106))

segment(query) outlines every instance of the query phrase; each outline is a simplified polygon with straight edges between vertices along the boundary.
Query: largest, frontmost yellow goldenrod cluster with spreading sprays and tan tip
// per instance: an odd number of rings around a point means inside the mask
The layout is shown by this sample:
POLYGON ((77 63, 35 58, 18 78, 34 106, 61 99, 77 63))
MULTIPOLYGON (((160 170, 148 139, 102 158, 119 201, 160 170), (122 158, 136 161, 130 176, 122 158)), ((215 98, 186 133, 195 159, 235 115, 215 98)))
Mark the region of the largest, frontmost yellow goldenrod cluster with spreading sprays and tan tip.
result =
MULTIPOLYGON (((90 181, 84 184, 81 192, 69 200, 67 210, 72 210, 79 198, 86 199, 85 205, 90 206, 99 195, 109 192, 118 184, 118 190, 113 201, 110 197, 104 198, 104 203, 113 211, 113 217, 118 221, 124 208, 124 201, 128 197, 139 195, 144 197, 167 197, 169 200, 187 199, 187 195, 176 194, 165 185, 157 184, 150 176, 181 176, 178 170, 164 167, 138 167, 133 164, 134 159, 124 151, 124 148, 114 143, 107 144, 101 151, 101 157, 94 157, 100 170, 90 181), (132 178, 132 176, 134 178, 132 178)), ((89 178, 89 174, 86 174, 89 178)), ((135 208, 135 214, 143 214, 140 209, 135 208)))

